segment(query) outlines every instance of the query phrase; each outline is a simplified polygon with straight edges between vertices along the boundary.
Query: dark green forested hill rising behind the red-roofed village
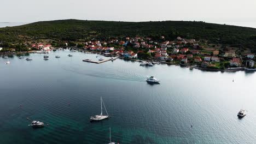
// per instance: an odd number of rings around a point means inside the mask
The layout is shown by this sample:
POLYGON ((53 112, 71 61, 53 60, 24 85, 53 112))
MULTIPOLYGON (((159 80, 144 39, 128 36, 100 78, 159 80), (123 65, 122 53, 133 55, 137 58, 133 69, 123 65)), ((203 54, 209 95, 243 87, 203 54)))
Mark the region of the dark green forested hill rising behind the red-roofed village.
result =
POLYGON ((56 20, 34 22, 23 26, 0 28, 0 41, 19 39, 108 39, 117 37, 152 37, 164 35, 167 40, 177 36, 206 39, 211 43, 256 49, 256 28, 218 25, 195 21, 86 21, 56 20))

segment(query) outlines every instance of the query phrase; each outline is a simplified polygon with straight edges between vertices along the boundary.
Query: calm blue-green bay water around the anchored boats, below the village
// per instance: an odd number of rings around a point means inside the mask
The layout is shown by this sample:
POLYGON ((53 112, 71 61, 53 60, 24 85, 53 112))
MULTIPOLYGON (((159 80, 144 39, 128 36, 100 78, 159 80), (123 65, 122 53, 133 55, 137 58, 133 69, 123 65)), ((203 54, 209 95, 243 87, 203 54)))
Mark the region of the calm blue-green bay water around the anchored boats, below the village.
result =
POLYGON ((9 56, 9 65, 0 58, 0 143, 108 143, 109 127, 119 143, 256 141, 255 73, 94 64, 82 61, 97 60, 94 54, 68 53, 51 52, 48 61, 38 53, 32 61, 9 56), (151 75, 160 85, 145 81, 151 75), (112 118, 90 122, 100 97, 112 118), (242 119, 240 109, 248 110, 242 119), (32 120, 49 126, 33 129, 32 120))

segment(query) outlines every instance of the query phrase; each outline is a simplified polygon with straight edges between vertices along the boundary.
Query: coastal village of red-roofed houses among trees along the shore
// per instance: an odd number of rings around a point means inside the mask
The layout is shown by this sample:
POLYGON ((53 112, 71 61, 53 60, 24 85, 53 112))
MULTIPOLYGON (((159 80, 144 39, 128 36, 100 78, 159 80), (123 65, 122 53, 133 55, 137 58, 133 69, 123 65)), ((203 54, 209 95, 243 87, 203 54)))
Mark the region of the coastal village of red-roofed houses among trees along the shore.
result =
MULTIPOLYGON (((54 43, 53 43, 54 44, 54 43)), ((57 49, 56 45, 49 43, 31 44, 33 52, 45 52, 57 49)), ((102 53, 104 56, 116 56, 131 60, 158 61, 167 64, 183 65, 190 68, 209 70, 254 70, 254 54, 248 51, 241 52, 236 47, 208 44, 207 40, 185 39, 177 37, 169 41, 164 36, 153 40, 152 38, 129 38, 108 41, 76 40, 63 42, 63 47, 71 50, 102 53)), ((6 49, 6 48, 5 48, 6 49)), ((1 52, 3 48, 0 47, 1 52)), ((15 49, 8 52, 15 53, 15 49)), ((16 51, 18 53, 19 51, 16 51)))

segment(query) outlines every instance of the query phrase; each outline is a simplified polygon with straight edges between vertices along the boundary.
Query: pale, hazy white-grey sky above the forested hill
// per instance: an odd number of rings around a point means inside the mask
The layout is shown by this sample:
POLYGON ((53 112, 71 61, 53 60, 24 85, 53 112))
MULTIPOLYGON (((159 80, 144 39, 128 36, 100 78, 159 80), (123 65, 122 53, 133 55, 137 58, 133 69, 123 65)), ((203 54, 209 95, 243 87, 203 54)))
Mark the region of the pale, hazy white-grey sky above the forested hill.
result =
POLYGON ((256 28, 255 0, 3 0, 0 22, 205 21, 256 28))

